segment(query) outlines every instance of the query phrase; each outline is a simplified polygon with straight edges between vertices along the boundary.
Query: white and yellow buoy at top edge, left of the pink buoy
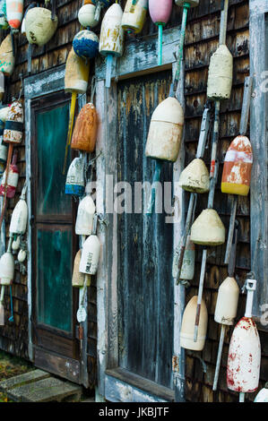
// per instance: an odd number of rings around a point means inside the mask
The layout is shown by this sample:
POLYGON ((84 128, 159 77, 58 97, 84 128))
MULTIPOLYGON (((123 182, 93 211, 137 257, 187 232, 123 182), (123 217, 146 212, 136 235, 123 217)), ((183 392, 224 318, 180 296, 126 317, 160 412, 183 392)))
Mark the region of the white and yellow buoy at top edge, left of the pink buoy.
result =
POLYGON ((122 28, 128 33, 140 33, 146 20, 148 0, 127 0, 122 17, 122 28))

